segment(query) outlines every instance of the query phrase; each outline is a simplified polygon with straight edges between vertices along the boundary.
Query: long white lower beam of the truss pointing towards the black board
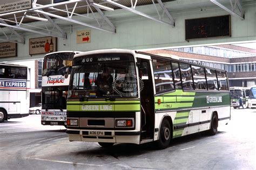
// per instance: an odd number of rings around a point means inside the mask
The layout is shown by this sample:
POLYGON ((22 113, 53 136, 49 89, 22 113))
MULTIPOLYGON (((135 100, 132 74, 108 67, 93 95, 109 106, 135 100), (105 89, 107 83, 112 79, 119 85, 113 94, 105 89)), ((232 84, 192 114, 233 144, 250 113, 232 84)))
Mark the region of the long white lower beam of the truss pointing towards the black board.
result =
MULTIPOLYGON (((133 9, 133 8, 129 8, 129 7, 124 6, 124 5, 122 5, 122 4, 113 2, 112 0, 103 0, 103 1, 105 1, 105 2, 107 2, 107 3, 110 3, 111 5, 114 5, 114 6, 118 6, 119 8, 122 8, 122 9, 124 9, 124 10, 130 11, 130 12, 133 12, 133 13, 136 13, 137 15, 140 15, 140 16, 143 16, 143 17, 152 19, 152 20, 154 20, 154 21, 156 21, 156 22, 164 23, 164 24, 169 24, 169 25, 171 25, 171 26, 174 27, 174 23, 173 23, 173 22, 165 22, 164 20, 156 19, 156 18, 151 17, 151 16, 149 16, 149 15, 143 13, 143 12, 140 12, 140 11, 135 10, 135 8, 134 8, 134 9, 133 9)), ((133 6, 133 7, 134 7, 134 6, 133 6)))

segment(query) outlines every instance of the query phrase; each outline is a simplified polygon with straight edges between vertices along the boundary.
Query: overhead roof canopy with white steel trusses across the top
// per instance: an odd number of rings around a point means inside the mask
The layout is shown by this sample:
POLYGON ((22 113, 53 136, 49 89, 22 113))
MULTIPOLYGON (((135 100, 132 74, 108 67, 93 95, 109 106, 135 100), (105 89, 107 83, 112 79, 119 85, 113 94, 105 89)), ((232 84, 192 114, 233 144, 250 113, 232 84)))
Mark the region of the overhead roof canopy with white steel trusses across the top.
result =
MULTIPOLYGON (((248 2, 250 0, 243 1, 248 2)), ((0 5, 5 9, 12 9, 18 5, 23 5, 24 7, 24 4, 29 6, 29 3, 31 5, 28 7, 29 9, 20 8, 22 10, 8 11, 6 13, 4 10, 0 10, 0 41, 24 44, 23 32, 65 39, 66 33, 62 25, 71 24, 116 33, 116 27, 112 20, 118 17, 125 18, 129 13, 174 27, 175 20, 171 15, 173 11, 215 4, 232 15, 241 19, 244 18, 244 11, 238 0, 197 0, 193 1, 193 3, 189 0, 72 0, 54 2, 55 0, 2 0, 0 5), (14 5, 14 3, 16 4, 14 5), (147 9, 154 9, 154 11, 147 9)))

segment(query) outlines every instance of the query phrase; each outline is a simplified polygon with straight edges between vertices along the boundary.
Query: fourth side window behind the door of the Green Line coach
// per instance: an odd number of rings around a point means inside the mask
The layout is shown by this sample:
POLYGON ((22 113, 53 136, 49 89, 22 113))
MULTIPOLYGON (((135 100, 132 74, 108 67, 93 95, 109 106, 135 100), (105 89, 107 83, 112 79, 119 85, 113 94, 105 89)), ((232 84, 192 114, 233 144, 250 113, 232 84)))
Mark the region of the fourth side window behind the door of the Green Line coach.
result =
POLYGON ((207 90, 205 70, 202 67, 192 66, 194 89, 207 90))

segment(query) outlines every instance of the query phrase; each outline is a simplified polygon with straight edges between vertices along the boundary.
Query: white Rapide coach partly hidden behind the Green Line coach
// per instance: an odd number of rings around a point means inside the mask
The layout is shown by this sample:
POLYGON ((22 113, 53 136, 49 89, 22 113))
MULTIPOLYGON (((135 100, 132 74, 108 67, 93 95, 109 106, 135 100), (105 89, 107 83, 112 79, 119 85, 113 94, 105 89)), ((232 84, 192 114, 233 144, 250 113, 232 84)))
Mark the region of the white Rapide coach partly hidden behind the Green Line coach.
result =
POLYGON ((78 52, 60 51, 44 56, 42 77, 42 125, 66 126, 68 95, 73 56, 78 52))

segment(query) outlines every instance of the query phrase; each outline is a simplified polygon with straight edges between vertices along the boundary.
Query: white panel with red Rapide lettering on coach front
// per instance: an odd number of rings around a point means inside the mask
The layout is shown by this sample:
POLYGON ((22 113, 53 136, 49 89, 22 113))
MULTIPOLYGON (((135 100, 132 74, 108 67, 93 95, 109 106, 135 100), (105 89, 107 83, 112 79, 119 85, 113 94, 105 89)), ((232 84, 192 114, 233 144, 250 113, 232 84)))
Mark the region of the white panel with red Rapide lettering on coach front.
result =
POLYGON ((42 87, 47 86, 69 86, 70 75, 65 79, 62 75, 43 76, 42 87))

